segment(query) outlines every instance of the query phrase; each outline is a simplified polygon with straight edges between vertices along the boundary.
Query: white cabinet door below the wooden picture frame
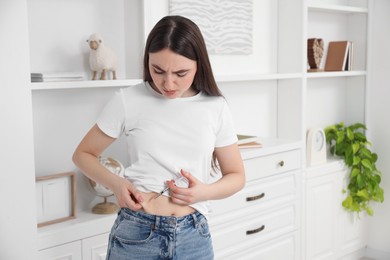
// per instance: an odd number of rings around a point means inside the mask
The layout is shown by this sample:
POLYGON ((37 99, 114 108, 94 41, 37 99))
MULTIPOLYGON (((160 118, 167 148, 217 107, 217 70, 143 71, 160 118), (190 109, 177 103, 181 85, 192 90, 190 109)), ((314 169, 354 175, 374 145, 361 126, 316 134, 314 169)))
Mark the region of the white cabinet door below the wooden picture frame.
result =
POLYGON ((38 252, 39 260, 81 260, 81 242, 43 249, 38 252))

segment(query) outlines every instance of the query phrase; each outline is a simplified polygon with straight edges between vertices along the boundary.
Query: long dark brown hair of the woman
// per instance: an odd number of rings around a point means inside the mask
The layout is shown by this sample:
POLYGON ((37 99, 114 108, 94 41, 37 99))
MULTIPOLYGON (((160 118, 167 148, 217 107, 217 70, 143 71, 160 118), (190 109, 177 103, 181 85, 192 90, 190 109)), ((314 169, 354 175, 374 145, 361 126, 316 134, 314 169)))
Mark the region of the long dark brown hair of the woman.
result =
POLYGON ((170 49, 197 63, 192 88, 209 96, 222 96, 211 69, 205 41, 199 27, 183 16, 165 16, 149 33, 144 53, 144 81, 152 82, 149 53, 170 49))

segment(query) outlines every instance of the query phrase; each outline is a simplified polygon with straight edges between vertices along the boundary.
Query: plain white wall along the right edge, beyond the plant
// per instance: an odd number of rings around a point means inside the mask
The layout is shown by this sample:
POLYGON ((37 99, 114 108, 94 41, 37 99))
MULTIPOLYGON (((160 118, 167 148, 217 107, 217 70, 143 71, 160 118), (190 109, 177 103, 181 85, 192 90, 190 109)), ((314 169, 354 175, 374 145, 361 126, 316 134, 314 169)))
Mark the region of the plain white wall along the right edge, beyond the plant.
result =
MULTIPOLYGON (((374 208, 369 219, 369 244, 373 250, 386 252, 390 257, 390 1, 375 0, 372 17, 371 78, 368 117, 369 138, 379 155, 378 168, 382 171, 385 201, 374 208)), ((381 257, 382 258, 382 257, 381 257)))

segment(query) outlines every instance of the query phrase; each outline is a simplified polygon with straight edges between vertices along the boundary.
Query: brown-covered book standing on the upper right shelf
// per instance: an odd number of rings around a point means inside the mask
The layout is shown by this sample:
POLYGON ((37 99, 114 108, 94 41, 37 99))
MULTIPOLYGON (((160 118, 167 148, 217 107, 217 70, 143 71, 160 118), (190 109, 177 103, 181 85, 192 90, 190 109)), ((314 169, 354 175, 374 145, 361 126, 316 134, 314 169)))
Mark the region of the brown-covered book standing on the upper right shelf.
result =
POLYGON ((352 55, 350 51, 351 42, 349 41, 332 41, 329 42, 328 53, 325 61, 325 71, 344 71, 349 70, 347 60, 351 60, 352 55))

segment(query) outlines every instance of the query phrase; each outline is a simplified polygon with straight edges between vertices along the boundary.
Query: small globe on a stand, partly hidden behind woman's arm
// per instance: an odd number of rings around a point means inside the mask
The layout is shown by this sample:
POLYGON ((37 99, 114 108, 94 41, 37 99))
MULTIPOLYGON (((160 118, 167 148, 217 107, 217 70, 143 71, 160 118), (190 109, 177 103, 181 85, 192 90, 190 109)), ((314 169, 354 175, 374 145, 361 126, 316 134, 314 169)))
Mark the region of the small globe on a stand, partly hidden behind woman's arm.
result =
MULTIPOLYGON (((99 162, 104 167, 106 167, 110 172, 113 174, 116 174, 118 176, 123 177, 125 173, 125 167, 123 167, 122 163, 114 158, 111 157, 99 157, 99 162)), ((88 182, 94 191, 94 193, 99 196, 103 197, 104 201, 101 203, 96 204, 92 208, 92 212, 96 214, 112 214, 116 213, 119 209, 118 205, 116 205, 113 202, 108 202, 107 198, 114 195, 114 193, 107 187, 103 186, 100 183, 97 183, 91 179, 88 179, 88 182)))

